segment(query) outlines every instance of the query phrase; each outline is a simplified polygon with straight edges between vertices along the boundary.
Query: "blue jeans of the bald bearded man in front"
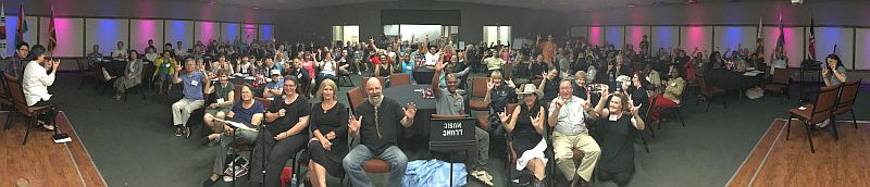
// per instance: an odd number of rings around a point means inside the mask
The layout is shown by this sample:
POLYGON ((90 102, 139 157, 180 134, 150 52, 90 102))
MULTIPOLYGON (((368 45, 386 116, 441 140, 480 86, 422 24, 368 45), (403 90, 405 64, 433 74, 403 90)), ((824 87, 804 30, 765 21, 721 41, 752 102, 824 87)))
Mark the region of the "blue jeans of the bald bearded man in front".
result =
POLYGON ((405 155, 405 152, 399 147, 390 146, 381 155, 375 157, 365 145, 357 146, 350 150, 341 161, 341 165, 345 167, 352 186, 373 186, 372 179, 362 170, 362 164, 370 159, 382 159, 389 163, 389 182, 387 185, 390 187, 401 186, 405 167, 408 165, 408 157, 405 155))

